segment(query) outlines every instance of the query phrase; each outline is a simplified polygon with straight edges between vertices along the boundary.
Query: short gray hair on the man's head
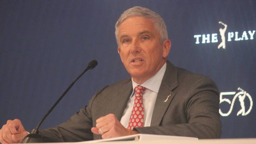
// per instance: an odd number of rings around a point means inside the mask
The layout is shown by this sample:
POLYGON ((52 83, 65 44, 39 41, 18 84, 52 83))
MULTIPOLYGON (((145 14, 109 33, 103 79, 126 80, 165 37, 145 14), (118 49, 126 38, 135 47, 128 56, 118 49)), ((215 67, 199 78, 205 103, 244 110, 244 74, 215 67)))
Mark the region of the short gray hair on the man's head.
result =
POLYGON ((168 39, 168 33, 166 30, 166 25, 164 23, 163 18, 156 12, 145 8, 145 7, 141 7, 141 6, 134 6, 132 8, 127 9, 126 11, 124 11, 122 13, 122 15, 119 17, 119 19, 116 22, 115 25, 115 35, 116 35, 116 41, 117 44, 119 45, 118 42, 118 28, 121 25, 121 23, 126 19, 126 18, 130 18, 130 17, 135 17, 135 16, 141 16, 144 18, 150 18, 154 21, 156 28, 160 34, 160 43, 162 43, 164 40, 168 39))

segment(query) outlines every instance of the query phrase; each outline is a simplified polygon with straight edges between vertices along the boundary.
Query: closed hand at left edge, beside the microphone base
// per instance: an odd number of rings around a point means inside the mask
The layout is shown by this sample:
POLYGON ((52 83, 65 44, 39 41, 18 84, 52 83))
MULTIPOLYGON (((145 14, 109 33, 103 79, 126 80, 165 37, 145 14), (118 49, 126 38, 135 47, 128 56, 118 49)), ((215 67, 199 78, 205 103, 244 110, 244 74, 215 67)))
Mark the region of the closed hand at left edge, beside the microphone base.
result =
POLYGON ((20 120, 8 120, 0 129, 1 143, 20 143, 28 135, 20 120))

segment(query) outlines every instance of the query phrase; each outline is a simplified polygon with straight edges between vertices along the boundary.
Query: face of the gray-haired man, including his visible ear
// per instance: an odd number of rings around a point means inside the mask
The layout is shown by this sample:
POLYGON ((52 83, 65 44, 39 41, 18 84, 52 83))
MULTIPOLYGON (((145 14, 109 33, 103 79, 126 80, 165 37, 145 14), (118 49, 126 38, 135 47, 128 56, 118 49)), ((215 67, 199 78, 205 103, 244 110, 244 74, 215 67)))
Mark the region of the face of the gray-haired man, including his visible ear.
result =
POLYGON ((154 76, 166 62, 171 42, 160 44, 152 19, 130 17, 118 29, 118 52, 123 65, 137 83, 154 76))

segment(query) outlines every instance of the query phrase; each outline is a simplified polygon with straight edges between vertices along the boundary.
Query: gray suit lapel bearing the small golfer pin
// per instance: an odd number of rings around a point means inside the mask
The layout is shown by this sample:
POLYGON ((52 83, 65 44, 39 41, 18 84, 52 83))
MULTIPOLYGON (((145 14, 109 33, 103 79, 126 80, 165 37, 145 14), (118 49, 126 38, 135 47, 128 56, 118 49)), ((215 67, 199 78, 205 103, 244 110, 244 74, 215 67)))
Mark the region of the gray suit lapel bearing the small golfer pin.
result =
POLYGON ((176 94, 172 90, 177 86, 178 86, 177 69, 169 61, 167 61, 166 71, 164 73, 162 83, 159 88, 150 126, 160 125, 160 122, 167 108, 169 107, 170 103, 173 100, 173 97, 176 94), (170 94, 171 96, 168 98, 166 102, 164 102, 167 99, 167 96, 170 94))

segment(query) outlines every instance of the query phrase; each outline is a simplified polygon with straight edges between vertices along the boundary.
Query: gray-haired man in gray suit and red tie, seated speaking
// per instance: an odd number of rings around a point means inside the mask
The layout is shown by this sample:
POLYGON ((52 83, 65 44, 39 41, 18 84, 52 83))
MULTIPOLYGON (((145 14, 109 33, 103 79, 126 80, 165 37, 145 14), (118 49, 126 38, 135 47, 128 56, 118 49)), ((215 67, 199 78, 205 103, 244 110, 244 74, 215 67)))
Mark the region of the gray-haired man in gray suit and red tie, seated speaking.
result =
MULTIPOLYGON (((157 13, 130 8, 116 22, 115 34, 132 78, 97 91, 67 122, 39 134, 60 142, 138 133, 220 138, 218 88, 210 78, 167 61, 171 41, 157 13)), ((20 142, 26 135, 19 120, 8 120, 0 130, 0 142, 20 142)))

